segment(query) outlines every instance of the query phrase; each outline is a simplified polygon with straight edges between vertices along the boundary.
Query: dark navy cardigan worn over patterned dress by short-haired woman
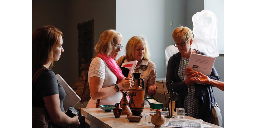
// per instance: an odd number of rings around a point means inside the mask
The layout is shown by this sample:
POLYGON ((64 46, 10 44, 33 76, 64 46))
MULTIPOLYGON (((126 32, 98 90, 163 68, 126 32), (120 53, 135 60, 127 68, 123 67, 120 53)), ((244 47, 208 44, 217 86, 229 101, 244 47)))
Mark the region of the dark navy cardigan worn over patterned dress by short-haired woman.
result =
MULTIPOLYGON (((203 52, 196 50, 197 54, 206 55, 203 52)), ((179 62, 181 58, 181 53, 178 52, 170 57, 167 66, 166 72, 166 83, 170 80, 173 81, 172 89, 174 92, 178 94, 178 101, 175 103, 175 108, 184 108, 183 102, 185 97, 188 94, 188 88, 186 87, 185 81, 182 81, 178 76, 179 62)), ((214 66, 212 67, 211 75, 208 76, 210 79, 220 81, 220 77, 215 70, 214 66)), ((209 89, 209 86, 212 85, 202 85, 202 84, 194 84, 195 85, 195 95, 199 99, 199 118, 209 122, 212 120, 212 108, 211 108, 211 99, 210 93, 213 97, 213 104, 215 106, 216 100, 212 89, 209 89)), ((168 86, 167 86, 168 88, 168 86)), ((210 87, 211 88, 211 87, 210 87)))

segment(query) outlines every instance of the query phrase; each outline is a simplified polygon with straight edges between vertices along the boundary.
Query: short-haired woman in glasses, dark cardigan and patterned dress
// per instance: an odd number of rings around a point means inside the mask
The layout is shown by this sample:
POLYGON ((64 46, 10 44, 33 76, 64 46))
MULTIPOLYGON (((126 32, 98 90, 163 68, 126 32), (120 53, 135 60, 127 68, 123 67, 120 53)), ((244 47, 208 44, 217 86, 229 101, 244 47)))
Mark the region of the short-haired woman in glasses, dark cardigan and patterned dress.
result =
MULTIPOLYGON (((197 71, 186 67, 184 62, 188 63, 191 53, 206 54, 196 49, 191 49, 193 33, 188 27, 180 26, 176 28, 172 33, 172 37, 175 42, 174 46, 178 48, 179 52, 171 56, 168 61, 166 83, 172 80, 172 89, 179 96, 175 108, 185 108, 185 113, 188 116, 211 123, 210 93, 213 96, 213 104, 215 105, 216 103, 212 89, 209 89, 209 86, 212 85, 197 84, 191 80, 190 78, 201 77, 201 75, 197 71), (185 76, 188 76, 188 78, 183 81, 185 76)), ((214 67, 208 77, 220 81, 220 77, 214 67)))

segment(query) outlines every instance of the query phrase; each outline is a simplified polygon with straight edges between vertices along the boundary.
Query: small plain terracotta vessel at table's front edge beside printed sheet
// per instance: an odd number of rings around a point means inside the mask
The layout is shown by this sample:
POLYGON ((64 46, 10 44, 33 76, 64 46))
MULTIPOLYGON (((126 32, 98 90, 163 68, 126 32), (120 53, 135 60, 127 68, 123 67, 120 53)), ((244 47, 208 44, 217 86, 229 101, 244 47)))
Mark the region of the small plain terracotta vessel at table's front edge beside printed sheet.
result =
POLYGON ((165 122, 165 119, 164 119, 164 116, 161 115, 161 111, 159 109, 156 109, 156 114, 152 115, 150 114, 151 117, 151 122, 152 124, 155 125, 155 127, 161 127, 162 124, 164 124, 165 122))

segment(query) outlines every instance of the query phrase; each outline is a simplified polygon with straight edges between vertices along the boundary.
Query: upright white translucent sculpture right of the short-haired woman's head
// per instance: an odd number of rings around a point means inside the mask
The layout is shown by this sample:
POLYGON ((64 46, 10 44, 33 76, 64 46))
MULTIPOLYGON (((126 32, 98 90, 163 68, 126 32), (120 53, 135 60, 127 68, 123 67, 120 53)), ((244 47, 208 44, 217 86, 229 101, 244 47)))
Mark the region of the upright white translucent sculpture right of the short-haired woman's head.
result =
POLYGON ((191 45, 208 56, 219 56, 217 46, 217 16, 209 10, 202 10, 192 16, 194 40, 191 45))

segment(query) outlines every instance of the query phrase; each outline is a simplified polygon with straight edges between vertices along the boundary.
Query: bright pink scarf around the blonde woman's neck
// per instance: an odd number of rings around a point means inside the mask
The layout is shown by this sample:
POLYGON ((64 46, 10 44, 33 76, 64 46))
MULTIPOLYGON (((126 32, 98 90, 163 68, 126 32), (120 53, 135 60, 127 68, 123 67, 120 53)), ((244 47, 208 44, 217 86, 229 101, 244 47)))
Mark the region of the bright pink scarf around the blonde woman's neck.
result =
POLYGON ((116 75, 117 77, 117 84, 121 81, 121 79, 124 77, 122 70, 117 65, 116 61, 112 59, 110 56, 106 56, 104 54, 98 53, 101 59, 105 60, 110 70, 116 75))

